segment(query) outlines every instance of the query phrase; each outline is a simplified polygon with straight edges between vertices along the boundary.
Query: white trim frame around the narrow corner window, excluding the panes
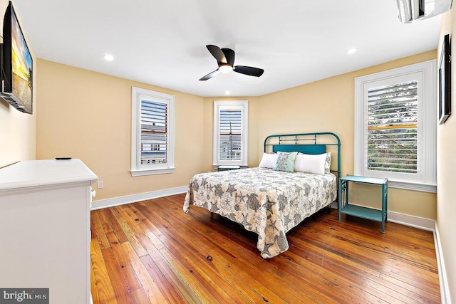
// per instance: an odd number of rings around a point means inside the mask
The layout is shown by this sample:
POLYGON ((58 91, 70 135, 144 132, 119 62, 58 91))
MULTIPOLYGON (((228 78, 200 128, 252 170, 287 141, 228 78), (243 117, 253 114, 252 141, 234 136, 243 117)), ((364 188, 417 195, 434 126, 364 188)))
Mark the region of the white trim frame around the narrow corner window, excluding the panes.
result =
POLYGON ((248 159, 248 120, 249 118, 249 101, 248 100, 214 100, 214 146, 212 150, 213 167, 224 165, 247 166, 248 159), (234 108, 242 110, 242 156, 239 160, 219 160, 219 110, 234 108))

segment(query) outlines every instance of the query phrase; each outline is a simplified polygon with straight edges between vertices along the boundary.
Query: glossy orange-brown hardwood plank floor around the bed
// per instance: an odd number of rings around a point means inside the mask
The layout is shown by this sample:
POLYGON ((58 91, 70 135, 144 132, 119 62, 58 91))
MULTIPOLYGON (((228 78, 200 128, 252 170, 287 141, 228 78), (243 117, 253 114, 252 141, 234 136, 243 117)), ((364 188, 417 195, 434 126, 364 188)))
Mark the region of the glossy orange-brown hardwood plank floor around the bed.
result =
POLYGON ((430 231, 323 210, 265 260, 255 234, 184 198, 91 212, 93 303, 440 303, 430 231))

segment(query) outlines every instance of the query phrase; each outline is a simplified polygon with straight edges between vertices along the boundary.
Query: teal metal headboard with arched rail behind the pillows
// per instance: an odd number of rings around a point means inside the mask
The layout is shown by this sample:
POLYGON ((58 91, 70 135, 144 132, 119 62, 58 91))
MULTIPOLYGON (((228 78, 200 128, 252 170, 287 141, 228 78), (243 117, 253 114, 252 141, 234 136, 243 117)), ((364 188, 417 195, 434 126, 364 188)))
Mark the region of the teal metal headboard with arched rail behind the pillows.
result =
POLYGON ((341 177, 341 140, 332 132, 269 135, 264 140, 264 152, 301 152, 321 154, 331 152, 331 172, 341 177))

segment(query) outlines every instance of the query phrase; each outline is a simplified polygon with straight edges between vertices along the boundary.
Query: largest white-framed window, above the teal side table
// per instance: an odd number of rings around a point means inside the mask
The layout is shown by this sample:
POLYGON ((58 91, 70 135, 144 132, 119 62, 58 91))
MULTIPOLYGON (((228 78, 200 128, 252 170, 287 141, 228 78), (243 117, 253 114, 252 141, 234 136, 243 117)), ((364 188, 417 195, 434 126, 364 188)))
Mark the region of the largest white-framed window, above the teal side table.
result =
POLYGON ((356 78, 355 174, 436 192, 435 61, 356 78))

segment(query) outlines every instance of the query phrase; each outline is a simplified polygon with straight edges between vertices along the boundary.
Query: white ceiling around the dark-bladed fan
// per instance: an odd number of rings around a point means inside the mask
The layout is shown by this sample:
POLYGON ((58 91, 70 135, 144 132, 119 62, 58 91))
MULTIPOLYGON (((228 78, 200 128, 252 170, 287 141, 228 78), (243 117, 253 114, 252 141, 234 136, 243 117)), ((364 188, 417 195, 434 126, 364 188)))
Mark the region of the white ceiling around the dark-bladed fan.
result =
MULTIPOLYGON (((258 96, 437 48, 440 16, 404 24, 395 0, 14 0, 38 58, 200 96, 258 96), (219 74, 207 44, 252 77, 219 74), (358 51, 348 55, 349 48, 358 51), (104 61, 110 53, 114 61, 104 61)), ((81 88, 82 89, 82 88, 81 88)))

